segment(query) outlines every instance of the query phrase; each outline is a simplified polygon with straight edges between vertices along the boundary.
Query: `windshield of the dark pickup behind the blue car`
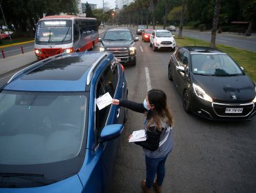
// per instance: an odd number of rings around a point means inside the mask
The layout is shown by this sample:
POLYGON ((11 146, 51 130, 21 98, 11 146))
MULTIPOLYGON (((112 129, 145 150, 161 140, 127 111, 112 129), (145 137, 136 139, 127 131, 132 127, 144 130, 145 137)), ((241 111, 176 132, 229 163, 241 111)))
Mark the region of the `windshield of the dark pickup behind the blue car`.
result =
POLYGON ((131 33, 129 31, 116 31, 106 32, 104 35, 104 41, 125 41, 132 40, 131 33))

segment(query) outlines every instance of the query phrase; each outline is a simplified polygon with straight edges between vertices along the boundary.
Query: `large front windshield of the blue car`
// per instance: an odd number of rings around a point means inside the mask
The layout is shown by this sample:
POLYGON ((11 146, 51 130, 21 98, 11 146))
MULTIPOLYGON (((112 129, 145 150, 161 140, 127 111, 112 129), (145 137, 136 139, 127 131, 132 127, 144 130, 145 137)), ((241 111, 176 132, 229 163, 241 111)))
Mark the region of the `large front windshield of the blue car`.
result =
POLYGON ((73 159, 84 136, 86 96, 64 92, 0 93, 0 164, 73 159))

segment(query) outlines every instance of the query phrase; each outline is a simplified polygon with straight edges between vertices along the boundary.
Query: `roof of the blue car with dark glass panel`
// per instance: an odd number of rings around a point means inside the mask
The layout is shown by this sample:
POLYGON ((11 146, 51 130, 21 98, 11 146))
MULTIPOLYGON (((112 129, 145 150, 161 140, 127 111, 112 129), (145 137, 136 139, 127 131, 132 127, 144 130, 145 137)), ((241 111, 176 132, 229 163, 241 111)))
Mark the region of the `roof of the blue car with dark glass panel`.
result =
MULTIPOLYGON (((84 91, 91 68, 105 52, 75 52, 35 64, 8 83, 4 90, 75 92, 84 91)), ((108 56, 109 57, 109 56, 108 56)))

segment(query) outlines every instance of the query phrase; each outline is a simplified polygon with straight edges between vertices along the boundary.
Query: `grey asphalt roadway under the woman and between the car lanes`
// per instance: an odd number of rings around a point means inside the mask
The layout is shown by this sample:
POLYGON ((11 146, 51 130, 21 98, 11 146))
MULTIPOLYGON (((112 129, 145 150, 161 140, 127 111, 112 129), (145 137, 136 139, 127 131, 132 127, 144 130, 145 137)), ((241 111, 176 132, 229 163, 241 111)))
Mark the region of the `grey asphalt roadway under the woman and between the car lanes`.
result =
MULTIPOLYGON (((179 92, 167 78, 167 63, 172 52, 154 52, 141 37, 136 47, 137 65, 125 66, 128 99, 141 102, 145 99, 147 69, 152 88, 167 93, 174 117, 174 148, 167 159, 163 192, 255 192, 256 119, 206 121, 185 113, 179 92)), ((98 49, 96 45, 95 50, 98 49)), ((0 79, 0 85, 7 79, 0 79)), ((132 131, 143 128, 144 119, 143 114, 129 111, 116 159, 113 193, 142 192, 140 181, 145 179, 145 156, 140 146, 127 142, 127 137, 132 131)))

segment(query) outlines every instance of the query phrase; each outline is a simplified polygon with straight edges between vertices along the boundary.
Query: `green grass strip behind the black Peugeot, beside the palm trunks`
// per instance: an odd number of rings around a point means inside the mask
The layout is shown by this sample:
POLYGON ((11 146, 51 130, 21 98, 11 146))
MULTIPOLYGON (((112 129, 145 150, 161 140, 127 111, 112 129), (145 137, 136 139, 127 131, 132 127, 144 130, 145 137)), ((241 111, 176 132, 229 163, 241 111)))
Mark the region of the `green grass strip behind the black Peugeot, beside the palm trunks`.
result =
MULTIPOLYGON (((183 37, 182 39, 175 39, 177 45, 179 46, 190 46, 190 45, 196 45, 196 46, 210 46, 210 42, 202 41, 199 39, 193 39, 190 37, 183 37)), ((250 52, 246 50, 241 50, 239 48, 233 48, 228 45, 222 45, 217 44, 216 45, 218 50, 221 50, 222 52, 226 52, 227 54, 234 59, 239 66, 244 68, 244 72, 248 74, 248 76, 253 79, 254 83, 256 83, 256 53, 250 52)))

